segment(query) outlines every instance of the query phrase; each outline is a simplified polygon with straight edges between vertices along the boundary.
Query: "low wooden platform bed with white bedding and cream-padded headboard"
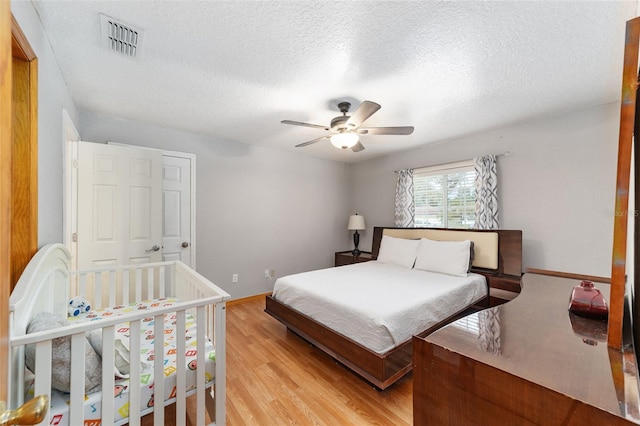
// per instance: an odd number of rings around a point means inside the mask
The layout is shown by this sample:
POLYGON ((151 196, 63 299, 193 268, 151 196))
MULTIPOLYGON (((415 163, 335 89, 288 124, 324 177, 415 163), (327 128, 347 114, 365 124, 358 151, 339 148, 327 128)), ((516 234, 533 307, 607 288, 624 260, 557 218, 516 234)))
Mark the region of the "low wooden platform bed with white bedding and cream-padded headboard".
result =
MULTIPOLYGON (((265 312, 376 388, 385 389, 412 369, 411 335, 424 337, 471 310, 488 307, 489 284, 520 277, 522 232, 376 227, 372 258, 376 260, 279 278, 274 292, 266 297, 265 312), (468 273, 458 277, 447 270, 434 275, 414 270, 413 264, 388 264, 390 248, 402 251, 423 238, 445 244, 437 247, 473 242, 468 273), (402 245, 389 245, 389 241, 402 245), (423 296, 420 283, 428 280, 442 284, 434 284, 435 294, 423 296), (392 290, 384 287, 389 283, 392 290), (443 287, 451 290, 448 295, 443 287), (391 301, 398 293, 413 300, 396 307, 391 301), (354 330, 364 336, 354 335, 354 330)), ((460 260, 458 265, 456 273, 461 272, 460 260)))

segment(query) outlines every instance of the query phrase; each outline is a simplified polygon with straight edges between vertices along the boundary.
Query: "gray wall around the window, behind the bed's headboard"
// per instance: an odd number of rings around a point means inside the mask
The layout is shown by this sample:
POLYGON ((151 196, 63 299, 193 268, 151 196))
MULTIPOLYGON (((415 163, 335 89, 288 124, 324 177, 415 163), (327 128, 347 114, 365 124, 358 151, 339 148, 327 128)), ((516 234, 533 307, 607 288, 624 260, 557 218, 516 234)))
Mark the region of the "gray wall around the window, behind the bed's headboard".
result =
POLYGON ((609 104, 353 165, 363 247, 374 225, 393 225, 394 170, 510 151, 498 158, 500 225, 523 231, 523 267, 610 276, 619 113, 609 104))

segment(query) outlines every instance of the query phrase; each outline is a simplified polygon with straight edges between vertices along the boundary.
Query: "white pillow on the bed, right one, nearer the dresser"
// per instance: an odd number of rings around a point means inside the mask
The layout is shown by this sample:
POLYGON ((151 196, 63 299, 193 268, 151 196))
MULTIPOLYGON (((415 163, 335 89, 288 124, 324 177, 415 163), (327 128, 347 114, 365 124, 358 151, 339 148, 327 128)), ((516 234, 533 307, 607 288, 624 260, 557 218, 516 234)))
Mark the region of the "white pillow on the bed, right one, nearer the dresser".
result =
POLYGON ((422 238, 418 245, 415 269, 466 277, 470 250, 470 240, 434 241, 422 238))

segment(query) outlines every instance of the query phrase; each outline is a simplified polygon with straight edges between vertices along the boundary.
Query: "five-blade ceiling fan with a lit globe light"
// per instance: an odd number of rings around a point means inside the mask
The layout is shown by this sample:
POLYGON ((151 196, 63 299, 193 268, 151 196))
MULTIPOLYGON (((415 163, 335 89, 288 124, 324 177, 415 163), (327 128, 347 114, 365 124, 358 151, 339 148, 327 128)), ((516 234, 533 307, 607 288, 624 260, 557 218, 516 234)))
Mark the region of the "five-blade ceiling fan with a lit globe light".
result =
POLYGON ((340 102, 338 108, 342 115, 334 117, 329 126, 319 124, 302 123, 300 121, 282 120, 283 124, 294 126, 315 127, 331 132, 330 135, 321 136, 307 142, 296 145, 296 148, 320 142, 323 139, 330 139, 331 144, 336 148, 348 149, 353 152, 362 151, 364 145, 360 143, 359 135, 410 135, 413 133, 413 126, 401 127, 360 127, 369 117, 371 117, 381 106, 375 102, 363 101, 351 116, 347 115, 351 104, 340 102))

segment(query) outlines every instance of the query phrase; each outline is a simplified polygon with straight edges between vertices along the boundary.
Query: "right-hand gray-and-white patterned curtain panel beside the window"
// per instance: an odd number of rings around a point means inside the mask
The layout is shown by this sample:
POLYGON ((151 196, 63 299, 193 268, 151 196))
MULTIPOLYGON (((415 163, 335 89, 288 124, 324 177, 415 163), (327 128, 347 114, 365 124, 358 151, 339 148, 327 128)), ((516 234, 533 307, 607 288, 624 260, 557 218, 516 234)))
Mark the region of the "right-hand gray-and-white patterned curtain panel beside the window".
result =
POLYGON ((476 229, 498 229, 498 171, 496 156, 473 159, 476 171, 476 229))

